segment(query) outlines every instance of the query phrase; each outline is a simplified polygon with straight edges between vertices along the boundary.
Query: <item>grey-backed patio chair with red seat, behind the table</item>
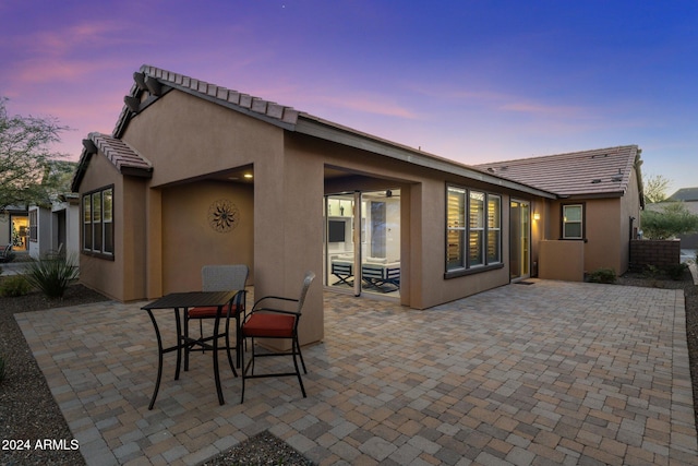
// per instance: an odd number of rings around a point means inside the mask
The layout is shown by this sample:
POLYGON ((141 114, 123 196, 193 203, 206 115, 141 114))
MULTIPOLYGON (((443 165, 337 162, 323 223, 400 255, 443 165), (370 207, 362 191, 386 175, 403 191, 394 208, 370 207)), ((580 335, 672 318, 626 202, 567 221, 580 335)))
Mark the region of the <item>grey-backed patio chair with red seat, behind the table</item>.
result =
MULTIPOLYGON (((240 367, 240 351, 238 349, 238 344, 240 343, 240 338, 238 335, 238 330, 240 328, 240 315, 244 316, 244 304, 245 304, 245 291, 244 285, 248 280, 249 268, 245 264, 234 264, 234 265, 204 265, 201 270, 201 280, 202 280, 202 290, 203 291, 230 291, 230 290, 240 290, 238 296, 236 297, 236 302, 232 303, 232 308, 230 309, 230 314, 236 318, 236 361, 238 367, 240 367)), ((210 336, 204 337, 204 325, 203 321, 205 320, 214 320, 217 315, 217 308, 215 306, 209 307, 196 307, 193 309, 189 309, 184 314, 184 335, 189 338, 189 321, 197 320, 198 321, 198 333, 200 338, 194 340, 192 339, 192 344, 184 348, 184 370, 189 370, 189 354, 191 351, 205 351, 207 349, 207 345, 203 345, 210 340, 210 336)), ((230 315, 226 319, 226 334, 229 335, 229 326, 230 326, 230 315)), ((226 347, 220 347, 219 349, 230 350, 229 348, 229 339, 226 339, 226 347)))

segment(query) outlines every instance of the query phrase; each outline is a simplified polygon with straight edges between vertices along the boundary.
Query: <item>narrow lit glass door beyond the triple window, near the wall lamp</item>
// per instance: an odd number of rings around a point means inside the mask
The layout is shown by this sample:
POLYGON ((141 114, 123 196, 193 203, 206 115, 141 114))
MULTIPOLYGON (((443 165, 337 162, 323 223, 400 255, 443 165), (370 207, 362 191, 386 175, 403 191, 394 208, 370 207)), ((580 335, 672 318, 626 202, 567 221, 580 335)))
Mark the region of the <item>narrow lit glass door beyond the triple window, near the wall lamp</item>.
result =
POLYGON ((530 204, 512 200, 509 207, 509 271, 513 282, 531 275, 530 204))

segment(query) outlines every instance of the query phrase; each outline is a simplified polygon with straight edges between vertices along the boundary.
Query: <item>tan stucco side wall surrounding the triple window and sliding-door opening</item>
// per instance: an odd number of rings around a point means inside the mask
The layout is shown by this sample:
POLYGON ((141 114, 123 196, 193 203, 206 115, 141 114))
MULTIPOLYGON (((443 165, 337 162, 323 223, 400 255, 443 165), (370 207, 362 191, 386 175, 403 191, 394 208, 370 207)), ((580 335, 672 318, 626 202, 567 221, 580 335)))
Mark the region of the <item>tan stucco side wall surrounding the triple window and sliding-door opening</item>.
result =
MULTIPOLYGON (((400 188, 402 228, 400 238, 400 300, 405 306, 426 309, 468 295, 509 283, 508 254, 509 195, 493 187, 425 167, 380 157, 364 151, 313 140, 290 139, 312 159, 333 169, 356 174, 341 180, 327 180, 324 193, 352 190, 400 188), (370 176, 368 175, 370 174, 370 176), (455 183, 502 195, 502 259, 504 267, 467 276, 444 277, 446 258, 446 187, 455 183)), ((321 175, 322 177, 322 175, 321 175)), ((313 201, 318 208, 318 198, 313 201)), ((255 200, 256 202, 256 200, 255 200)), ((322 212, 321 212, 322 215, 322 212)), ((322 220, 322 216, 320 217, 322 220)), ((318 226, 321 229, 322 223, 318 226)), ((322 237, 318 238, 322 251, 322 237)), ((322 261, 322 258, 320 258, 322 261)), ((322 262, 321 262, 322 263, 322 262)))

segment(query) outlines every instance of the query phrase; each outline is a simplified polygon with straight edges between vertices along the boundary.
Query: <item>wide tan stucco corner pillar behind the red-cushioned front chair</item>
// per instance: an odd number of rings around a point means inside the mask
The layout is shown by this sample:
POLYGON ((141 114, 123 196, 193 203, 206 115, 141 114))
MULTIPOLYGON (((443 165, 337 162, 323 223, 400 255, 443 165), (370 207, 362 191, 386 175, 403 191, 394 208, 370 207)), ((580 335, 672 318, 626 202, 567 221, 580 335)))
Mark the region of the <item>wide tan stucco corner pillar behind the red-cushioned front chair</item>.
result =
POLYGON ((292 141, 254 164, 255 296, 298 296, 306 271, 316 279, 299 325, 301 344, 324 336, 323 160, 292 141))

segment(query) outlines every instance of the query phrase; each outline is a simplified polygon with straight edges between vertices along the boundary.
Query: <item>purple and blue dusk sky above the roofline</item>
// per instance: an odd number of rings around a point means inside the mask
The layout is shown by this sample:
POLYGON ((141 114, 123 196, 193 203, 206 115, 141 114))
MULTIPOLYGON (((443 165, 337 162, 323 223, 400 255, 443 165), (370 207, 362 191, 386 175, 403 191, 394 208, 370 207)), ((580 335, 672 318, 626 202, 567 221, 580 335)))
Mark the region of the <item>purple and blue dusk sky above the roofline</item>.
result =
POLYGON ((142 64, 464 164, 637 144, 698 187, 695 0, 0 0, 0 96, 71 159, 142 64))

